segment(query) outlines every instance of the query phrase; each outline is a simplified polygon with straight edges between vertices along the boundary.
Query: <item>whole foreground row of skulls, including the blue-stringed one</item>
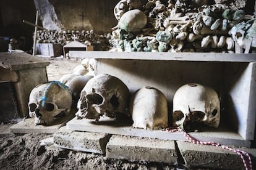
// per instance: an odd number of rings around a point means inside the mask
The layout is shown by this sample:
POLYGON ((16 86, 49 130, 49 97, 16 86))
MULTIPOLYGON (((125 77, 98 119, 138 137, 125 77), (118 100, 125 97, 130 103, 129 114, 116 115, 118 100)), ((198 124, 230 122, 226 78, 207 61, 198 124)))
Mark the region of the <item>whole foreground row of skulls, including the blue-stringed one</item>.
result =
POLYGON ((218 94, 200 84, 185 84, 177 89, 173 99, 172 123, 169 123, 166 97, 154 87, 143 87, 130 96, 126 84, 115 76, 76 76, 72 81, 75 86, 77 82, 82 84, 78 90, 80 95, 75 98, 72 83, 52 81, 32 90, 28 107, 35 124, 50 124, 60 114, 69 114, 72 99, 78 98, 75 113, 78 119, 100 121, 101 116, 115 119, 130 117, 134 122, 132 126, 143 129, 163 129, 168 124, 185 127, 190 123, 218 127, 220 123, 218 94))

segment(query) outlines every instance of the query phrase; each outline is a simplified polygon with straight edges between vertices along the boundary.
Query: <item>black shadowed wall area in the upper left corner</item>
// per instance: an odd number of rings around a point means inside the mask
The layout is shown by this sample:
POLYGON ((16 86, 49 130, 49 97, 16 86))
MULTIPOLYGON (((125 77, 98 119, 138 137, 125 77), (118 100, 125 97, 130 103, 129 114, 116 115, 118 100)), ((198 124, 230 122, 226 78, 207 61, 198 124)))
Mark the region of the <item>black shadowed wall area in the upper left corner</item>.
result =
POLYGON ((9 39, 19 40, 20 49, 28 51, 32 47, 32 33, 35 29, 22 20, 35 22, 33 0, 1 0, 0 3, 0 52, 7 52, 9 39))

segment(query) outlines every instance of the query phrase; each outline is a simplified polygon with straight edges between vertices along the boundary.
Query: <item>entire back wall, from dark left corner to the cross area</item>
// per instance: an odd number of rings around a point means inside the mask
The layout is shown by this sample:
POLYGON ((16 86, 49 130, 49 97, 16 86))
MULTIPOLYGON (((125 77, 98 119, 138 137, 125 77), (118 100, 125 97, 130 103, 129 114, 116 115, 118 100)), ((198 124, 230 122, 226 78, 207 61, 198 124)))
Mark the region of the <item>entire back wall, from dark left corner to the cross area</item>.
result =
POLYGON ((111 32, 111 28, 117 25, 113 14, 117 2, 119 0, 1 0, 0 52, 7 52, 11 38, 20 40, 20 49, 31 49, 35 28, 22 20, 35 23, 36 9, 40 13, 38 25, 49 30, 93 29, 95 33, 102 34, 111 32), (85 15, 83 25, 82 12, 85 15))

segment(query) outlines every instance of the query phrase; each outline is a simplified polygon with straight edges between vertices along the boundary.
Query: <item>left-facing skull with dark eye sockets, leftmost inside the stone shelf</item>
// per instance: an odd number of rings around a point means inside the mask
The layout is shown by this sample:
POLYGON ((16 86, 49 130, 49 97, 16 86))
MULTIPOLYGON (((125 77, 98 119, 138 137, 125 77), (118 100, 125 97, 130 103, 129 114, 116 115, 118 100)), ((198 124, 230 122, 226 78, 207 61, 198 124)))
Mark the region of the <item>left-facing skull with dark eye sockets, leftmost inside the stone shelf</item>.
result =
POLYGON ((119 78, 107 74, 97 75, 82 89, 77 103, 79 110, 75 115, 79 119, 96 121, 102 115, 117 119, 123 115, 129 116, 129 97, 129 89, 119 78))

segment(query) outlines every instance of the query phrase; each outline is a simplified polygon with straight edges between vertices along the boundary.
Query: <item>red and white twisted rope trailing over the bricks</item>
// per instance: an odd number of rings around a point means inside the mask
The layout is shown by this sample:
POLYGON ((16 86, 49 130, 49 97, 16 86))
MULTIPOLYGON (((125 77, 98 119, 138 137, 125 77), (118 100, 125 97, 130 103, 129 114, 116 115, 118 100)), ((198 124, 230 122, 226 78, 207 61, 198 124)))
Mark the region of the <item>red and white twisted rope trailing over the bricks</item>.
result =
POLYGON ((168 127, 168 128, 166 128, 166 131, 168 131, 168 132, 179 131, 186 137, 186 139, 190 143, 193 143, 193 144, 211 145, 211 146, 214 146, 214 147, 219 147, 219 148, 223 148, 223 149, 226 149, 226 150, 230 150, 231 152, 234 152, 234 153, 236 153, 237 155, 240 156, 240 158, 242 159, 242 162, 244 163, 244 168, 246 170, 249 170, 248 167, 247 167, 247 162, 245 161, 245 158, 244 158, 244 157, 247 157, 247 160, 249 162, 250 170, 252 170, 252 159, 250 158, 249 153, 244 152, 243 150, 239 150, 239 149, 236 149, 236 148, 230 148, 226 145, 221 145, 221 144, 218 144, 218 143, 215 143, 215 142, 202 142, 200 140, 195 139, 194 137, 191 137, 189 134, 187 134, 187 132, 185 132, 183 129, 181 129, 181 127, 175 127, 173 129, 168 127))

